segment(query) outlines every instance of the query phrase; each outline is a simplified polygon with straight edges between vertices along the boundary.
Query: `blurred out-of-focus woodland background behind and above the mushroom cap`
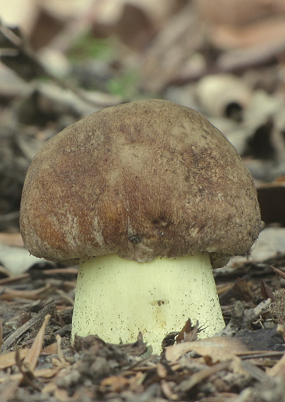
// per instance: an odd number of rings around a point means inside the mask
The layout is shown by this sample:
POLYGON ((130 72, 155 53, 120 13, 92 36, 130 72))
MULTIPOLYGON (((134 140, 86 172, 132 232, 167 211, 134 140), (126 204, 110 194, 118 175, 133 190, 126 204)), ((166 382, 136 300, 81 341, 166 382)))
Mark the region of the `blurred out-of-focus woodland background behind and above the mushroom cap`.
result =
POLYGON ((162 98, 205 114, 285 224, 284 0, 0 0, 0 231, 28 166, 93 111, 162 98))

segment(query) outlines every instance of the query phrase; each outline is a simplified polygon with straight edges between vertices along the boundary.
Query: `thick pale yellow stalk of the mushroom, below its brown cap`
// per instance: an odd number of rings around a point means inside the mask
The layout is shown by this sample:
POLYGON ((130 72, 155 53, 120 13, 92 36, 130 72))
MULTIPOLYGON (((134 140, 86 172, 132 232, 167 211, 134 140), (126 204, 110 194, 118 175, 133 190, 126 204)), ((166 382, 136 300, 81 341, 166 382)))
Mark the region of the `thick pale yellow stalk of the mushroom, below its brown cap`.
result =
POLYGON ((160 353, 164 336, 180 331, 189 317, 205 328, 201 338, 224 327, 207 253, 142 263, 117 255, 80 260, 72 339, 97 334, 110 343, 126 343, 142 331, 144 341, 160 353))

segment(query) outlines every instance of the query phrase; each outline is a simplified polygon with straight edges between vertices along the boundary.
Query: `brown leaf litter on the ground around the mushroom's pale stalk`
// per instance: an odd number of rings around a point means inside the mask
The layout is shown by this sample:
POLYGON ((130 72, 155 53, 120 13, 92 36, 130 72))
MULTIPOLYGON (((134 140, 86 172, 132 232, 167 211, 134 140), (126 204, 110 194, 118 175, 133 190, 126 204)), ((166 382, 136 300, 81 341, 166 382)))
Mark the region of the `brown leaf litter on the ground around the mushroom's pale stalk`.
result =
POLYGON ((147 355, 140 334, 125 345, 77 337, 71 347, 77 269, 43 268, 1 279, 1 400, 281 401, 284 256, 217 273, 222 334, 198 340, 202 328, 188 320, 161 356, 147 355), (274 303, 265 300, 272 295, 274 303))

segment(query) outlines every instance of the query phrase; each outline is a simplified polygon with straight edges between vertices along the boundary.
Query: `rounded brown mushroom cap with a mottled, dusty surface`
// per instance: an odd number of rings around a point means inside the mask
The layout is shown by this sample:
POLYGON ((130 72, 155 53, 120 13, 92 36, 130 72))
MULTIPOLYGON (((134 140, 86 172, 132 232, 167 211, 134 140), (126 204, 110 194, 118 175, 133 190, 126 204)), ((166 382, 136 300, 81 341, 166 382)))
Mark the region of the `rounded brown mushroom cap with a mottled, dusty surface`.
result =
POLYGON ((98 111, 30 165, 20 229, 51 261, 117 253, 139 262, 247 252, 260 210, 235 148, 201 114, 164 100, 98 111))

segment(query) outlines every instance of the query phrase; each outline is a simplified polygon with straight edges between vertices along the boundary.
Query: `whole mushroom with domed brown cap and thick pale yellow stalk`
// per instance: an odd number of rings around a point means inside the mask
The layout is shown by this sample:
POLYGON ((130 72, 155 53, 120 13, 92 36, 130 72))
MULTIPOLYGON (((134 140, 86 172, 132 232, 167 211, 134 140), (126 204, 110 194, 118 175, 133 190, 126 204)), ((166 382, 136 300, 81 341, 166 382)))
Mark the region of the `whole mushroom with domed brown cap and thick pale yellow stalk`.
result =
POLYGON ((97 111, 48 140, 28 169, 20 230, 32 255, 79 262, 72 337, 145 341, 188 317, 224 327, 212 267, 260 227, 253 179, 205 117, 164 100, 97 111))

